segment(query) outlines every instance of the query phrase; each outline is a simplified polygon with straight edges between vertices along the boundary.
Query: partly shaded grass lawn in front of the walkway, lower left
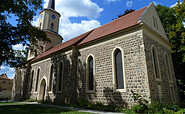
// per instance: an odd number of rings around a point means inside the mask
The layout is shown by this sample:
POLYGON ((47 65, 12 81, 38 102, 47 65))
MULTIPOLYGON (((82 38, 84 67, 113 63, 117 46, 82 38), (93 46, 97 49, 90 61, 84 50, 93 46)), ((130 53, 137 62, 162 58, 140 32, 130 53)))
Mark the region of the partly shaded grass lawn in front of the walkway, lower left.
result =
POLYGON ((0 103, 1 114, 89 114, 86 112, 50 108, 37 104, 0 103))

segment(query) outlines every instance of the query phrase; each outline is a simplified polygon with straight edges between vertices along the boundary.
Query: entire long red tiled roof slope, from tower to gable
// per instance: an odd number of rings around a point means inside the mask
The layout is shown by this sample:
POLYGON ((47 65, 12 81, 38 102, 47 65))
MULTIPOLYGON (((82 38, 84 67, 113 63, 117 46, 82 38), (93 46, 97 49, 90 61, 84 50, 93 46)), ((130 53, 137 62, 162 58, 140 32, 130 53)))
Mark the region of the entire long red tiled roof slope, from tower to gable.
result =
POLYGON ((88 42, 102 38, 104 36, 107 36, 107 35, 113 34, 115 32, 119 32, 121 30, 127 29, 129 27, 138 25, 140 23, 139 19, 143 15, 143 13, 145 12, 146 8, 147 7, 144 7, 142 9, 137 10, 137 11, 129 13, 129 14, 122 16, 122 17, 120 17, 120 18, 118 18, 108 24, 105 24, 103 26, 95 28, 95 29, 93 29, 89 32, 86 32, 80 36, 77 36, 69 41, 61 43, 61 44, 47 50, 43 54, 35 57, 32 61, 35 61, 35 60, 43 58, 47 55, 53 54, 53 53, 58 52, 62 49, 65 49, 65 48, 68 48, 71 46, 83 45, 88 42))

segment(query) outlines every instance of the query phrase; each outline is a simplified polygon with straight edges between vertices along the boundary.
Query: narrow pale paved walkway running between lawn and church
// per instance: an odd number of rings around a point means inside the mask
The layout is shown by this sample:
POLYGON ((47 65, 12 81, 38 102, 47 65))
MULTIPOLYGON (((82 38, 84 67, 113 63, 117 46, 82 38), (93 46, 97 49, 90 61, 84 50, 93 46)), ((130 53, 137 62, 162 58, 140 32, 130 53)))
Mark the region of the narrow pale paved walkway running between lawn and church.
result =
POLYGON ((59 106, 59 105, 41 104, 38 102, 19 102, 19 103, 20 104, 37 104, 37 105, 46 106, 46 107, 60 108, 60 109, 67 109, 67 110, 73 110, 73 111, 79 111, 79 112, 95 113, 95 114, 121 114, 121 113, 116 113, 116 112, 105 112, 105 111, 98 111, 98 110, 64 107, 64 106, 59 106))

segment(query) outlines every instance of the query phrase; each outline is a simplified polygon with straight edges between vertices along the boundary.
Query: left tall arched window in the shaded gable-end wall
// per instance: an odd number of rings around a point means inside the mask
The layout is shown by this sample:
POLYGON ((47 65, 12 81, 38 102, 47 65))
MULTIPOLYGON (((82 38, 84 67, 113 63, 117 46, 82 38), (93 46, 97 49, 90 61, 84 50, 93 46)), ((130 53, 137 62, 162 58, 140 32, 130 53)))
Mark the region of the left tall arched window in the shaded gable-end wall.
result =
POLYGON ((152 58, 153 58, 155 77, 156 79, 160 79, 159 63, 158 63, 157 52, 155 47, 152 47, 152 58))

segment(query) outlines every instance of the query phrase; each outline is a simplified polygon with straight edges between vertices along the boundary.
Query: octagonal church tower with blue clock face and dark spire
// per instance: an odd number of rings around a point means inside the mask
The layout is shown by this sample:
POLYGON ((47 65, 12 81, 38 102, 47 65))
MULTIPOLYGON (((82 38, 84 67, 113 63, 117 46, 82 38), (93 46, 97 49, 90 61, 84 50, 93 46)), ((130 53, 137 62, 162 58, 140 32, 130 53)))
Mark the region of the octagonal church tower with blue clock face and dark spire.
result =
POLYGON ((38 42, 39 45, 43 45, 43 48, 36 49, 36 52, 32 52, 30 50, 28 54, 28 60, 62 43, 63 40, 62 36, 58 34, 61 15, 55 10, 55 0, 49 0, 48 7, 43 9, 39 14, 38 26, 46 33, 51 42, 46 44, 38 42))

